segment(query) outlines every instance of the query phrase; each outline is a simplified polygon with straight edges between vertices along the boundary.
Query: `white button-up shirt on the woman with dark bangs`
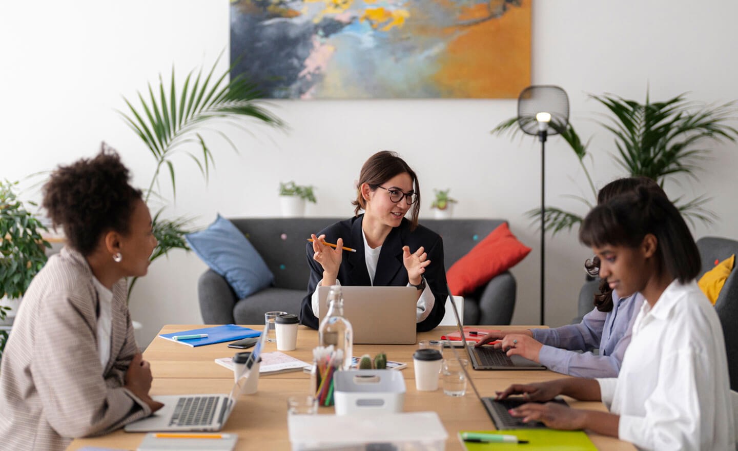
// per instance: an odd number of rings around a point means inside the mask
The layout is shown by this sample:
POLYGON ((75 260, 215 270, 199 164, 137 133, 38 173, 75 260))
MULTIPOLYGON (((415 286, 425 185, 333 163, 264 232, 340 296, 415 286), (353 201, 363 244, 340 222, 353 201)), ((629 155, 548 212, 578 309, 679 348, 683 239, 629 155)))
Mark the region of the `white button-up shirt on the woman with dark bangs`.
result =
POLYGON ((597 379, 618 438, 646 450, 734 450, 723 328, 692 281, 644 302, 617 378, 597 379))

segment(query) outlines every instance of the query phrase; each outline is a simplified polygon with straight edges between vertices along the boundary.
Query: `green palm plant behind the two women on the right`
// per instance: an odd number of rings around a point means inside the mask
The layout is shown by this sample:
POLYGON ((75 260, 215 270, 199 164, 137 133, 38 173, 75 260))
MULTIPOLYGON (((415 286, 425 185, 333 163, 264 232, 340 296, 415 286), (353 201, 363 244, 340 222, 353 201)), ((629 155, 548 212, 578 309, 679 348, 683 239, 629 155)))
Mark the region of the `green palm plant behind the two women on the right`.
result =
MULTIPOLYGON (((646 176, 658 182, 661 187, 666 181, 679 176, 696 179, 700 171, 697 163, 710 154, 710 142, 735 142, 738 139, 738 130, 729 125, 736 113, 732 102, 702 106, 687 100, 685 94, 663 102, 652 102, 648 92, 645 103, 613 94, 590 95, 590 98, 610 111, 609 120, 600 124, 613 134, 618 149, 614 155, 615 162, 624 171, 622 176, 646 176)), ((551 123, 551 126, 556 124, 551 123)), ((589 199, 572 197, 581 200, 590 209, 596 204, 597 190, 590 171, 584 164, 589 141, 582 142, 570 123, 557 131, 579 159, 592 193, 589 199)), ((517 118, 500 123, 492 131, 493 134, 505 132, 513 135, 520 132, 517 118)), ((706 208, 708 201, 706 196, 697 196, 686 201, 674 199, 674 204, 692 224, 694 221, 710 224, 717 216, 706 208)), ((540 221, 540 214, 539 208, 528 212, 535 222, 540 221)), ((545 230, 552 234, 570 230, 581 222, 582 216, 577 213, 559 207, 545 207, 545 230)))

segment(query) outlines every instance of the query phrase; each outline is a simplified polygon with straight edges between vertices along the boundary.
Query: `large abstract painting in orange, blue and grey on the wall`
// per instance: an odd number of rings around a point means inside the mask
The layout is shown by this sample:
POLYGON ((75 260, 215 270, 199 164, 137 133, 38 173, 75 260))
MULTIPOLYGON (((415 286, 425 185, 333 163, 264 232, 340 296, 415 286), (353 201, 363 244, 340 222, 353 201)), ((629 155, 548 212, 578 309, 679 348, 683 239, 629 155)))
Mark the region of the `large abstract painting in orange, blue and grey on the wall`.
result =
POLYGON ((514 98, 531 0, 231 0, 231 76, 277 99, 514 98))

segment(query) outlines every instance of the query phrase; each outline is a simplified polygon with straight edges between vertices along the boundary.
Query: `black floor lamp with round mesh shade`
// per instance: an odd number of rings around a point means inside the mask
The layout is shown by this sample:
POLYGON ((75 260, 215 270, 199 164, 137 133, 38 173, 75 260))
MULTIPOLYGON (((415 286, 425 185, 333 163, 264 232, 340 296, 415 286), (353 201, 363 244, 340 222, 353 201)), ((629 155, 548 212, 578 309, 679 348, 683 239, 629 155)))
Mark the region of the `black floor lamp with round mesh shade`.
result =
POLYGON ((569 123, 569 97, 559 86, 528 86, 517 97, 517 123, 525 134, 541 141, 541 324, 545 324, 545 142, 569 123))

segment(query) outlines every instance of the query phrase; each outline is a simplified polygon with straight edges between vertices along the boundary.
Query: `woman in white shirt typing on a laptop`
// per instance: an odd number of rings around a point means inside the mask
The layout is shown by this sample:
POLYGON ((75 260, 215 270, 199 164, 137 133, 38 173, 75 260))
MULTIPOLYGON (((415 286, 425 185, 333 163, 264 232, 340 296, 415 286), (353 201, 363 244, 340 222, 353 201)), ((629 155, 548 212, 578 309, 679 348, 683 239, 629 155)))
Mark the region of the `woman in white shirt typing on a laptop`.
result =
POLYGON ((579 239, 600 258, 599 275, 611 288, 646 300, 618 377, 511 385, 498 399, 601 400, 610 413, 528 403, 511 414, 613 435, 646 450, 734 449, 723 330, 694 280, 700 255, 676 207, 663 191, 642 187, 595 207, 579 239))

